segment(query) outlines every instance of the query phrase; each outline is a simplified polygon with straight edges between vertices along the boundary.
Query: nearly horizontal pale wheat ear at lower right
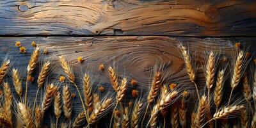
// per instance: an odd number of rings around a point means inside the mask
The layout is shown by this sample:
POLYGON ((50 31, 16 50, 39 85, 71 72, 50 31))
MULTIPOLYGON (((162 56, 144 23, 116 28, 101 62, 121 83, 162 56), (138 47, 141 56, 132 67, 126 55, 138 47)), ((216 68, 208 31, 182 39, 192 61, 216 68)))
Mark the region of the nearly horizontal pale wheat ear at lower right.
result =
POLYGON ((216 113, 213 115, 213 119, 217 120, 220 118, 227 118, 229 115, 232 115, 233 113, 236 113, 237 111, 240 111, 243 109, 244 106, 227 106, 225 108, 220 109, 219 111, 216 111, 216 113))

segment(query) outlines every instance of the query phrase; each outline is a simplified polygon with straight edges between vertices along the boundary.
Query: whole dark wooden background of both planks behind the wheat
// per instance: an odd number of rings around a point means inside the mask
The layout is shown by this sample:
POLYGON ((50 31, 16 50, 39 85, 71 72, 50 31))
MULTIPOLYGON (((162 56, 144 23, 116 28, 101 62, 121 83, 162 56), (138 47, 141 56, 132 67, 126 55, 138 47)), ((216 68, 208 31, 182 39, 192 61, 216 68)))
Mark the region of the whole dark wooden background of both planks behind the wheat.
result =
MULTIPOLYGON (((204 89, 200 63, 205 49, 221 49, 230 59, 235 42, 255 51, 256 1, 0 1, 1 60, 7 55, 14 60, 13 67, 26 70, 32 41, 49 49, 42 60, 65 54, 76 72, 90 72, 95 86, 102 84, 109 91, 108 77, 97 69, 100 64, 114 65, 120 78, 135 78, 145 95, 153 67, 161 62, 168 63, 171 81, 183 83, 193 92, 177 44, 189 45, 191 54, 198 56, 197 83, 204 89), (27 47, 26 54, 19 53, 15 41, 27 47), (77 56, 85 61, 77 63, 77 56)), ((52 79, 60 74, 56 68, 52 79)), ((81 82, 79 76, 81 73, 76 74, 77 83, 81 82)), ((36 83, 29 86, 30 99, 36 89, 36 83)), ((76 97, 73 115, 81 109, 76 97)), ((189 113, 193 109, 192 98, 189 113)), ((46 124, 55 120, 53 114, 46 118, 46 124)))

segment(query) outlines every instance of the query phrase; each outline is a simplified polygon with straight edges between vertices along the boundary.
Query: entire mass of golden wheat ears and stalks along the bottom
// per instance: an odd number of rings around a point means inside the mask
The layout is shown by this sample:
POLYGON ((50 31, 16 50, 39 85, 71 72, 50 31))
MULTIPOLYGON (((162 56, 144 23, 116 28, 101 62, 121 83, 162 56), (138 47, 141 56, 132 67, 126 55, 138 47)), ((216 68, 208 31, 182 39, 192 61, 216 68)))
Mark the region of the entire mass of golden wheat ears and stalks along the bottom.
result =
MULTIPOLYGON (((226 57, 225 61, 221 58, 221 51, 205 51, 201 68, 196 66, 188 46, 179 44, 178 49, 188 83, 172 80, 173 74, 156 64, 147 90, 140 88, 140 79, 118 74, 113 65, 100 64, 98 68, 106 74, 108 84, 97 83, 87 69, 76 76, 81 72, 75 72, 66 56, 56 59, 42 54, 39 45, 26 69, 12 67, 15 60, 6 58, 0 67, 0 127, 227 127, 234 124, 229 118, 240 120, 234 125, 256 127, 256 65, 251 63, 252 57, 234 48, 233 60, 227 62, 226 57), (47 56, 51 59, 44 61, 47 56), (198 68, 204 70, 205 86, 197 83, 198 68), (22 70, 27 70, 26 75, 22 70), (12 83, 7 74, 11 74, 12 83), (37 91, 31 94, 34 78, 37 91), (225 92, 227 88, 231 92, 225 92), (74 104, 76 94, 79 104, 74 104), (194 111, 190 113, 189 108, 194 111)), ((83 61, 82 56, 77 58, 79 65, 83 61)))

